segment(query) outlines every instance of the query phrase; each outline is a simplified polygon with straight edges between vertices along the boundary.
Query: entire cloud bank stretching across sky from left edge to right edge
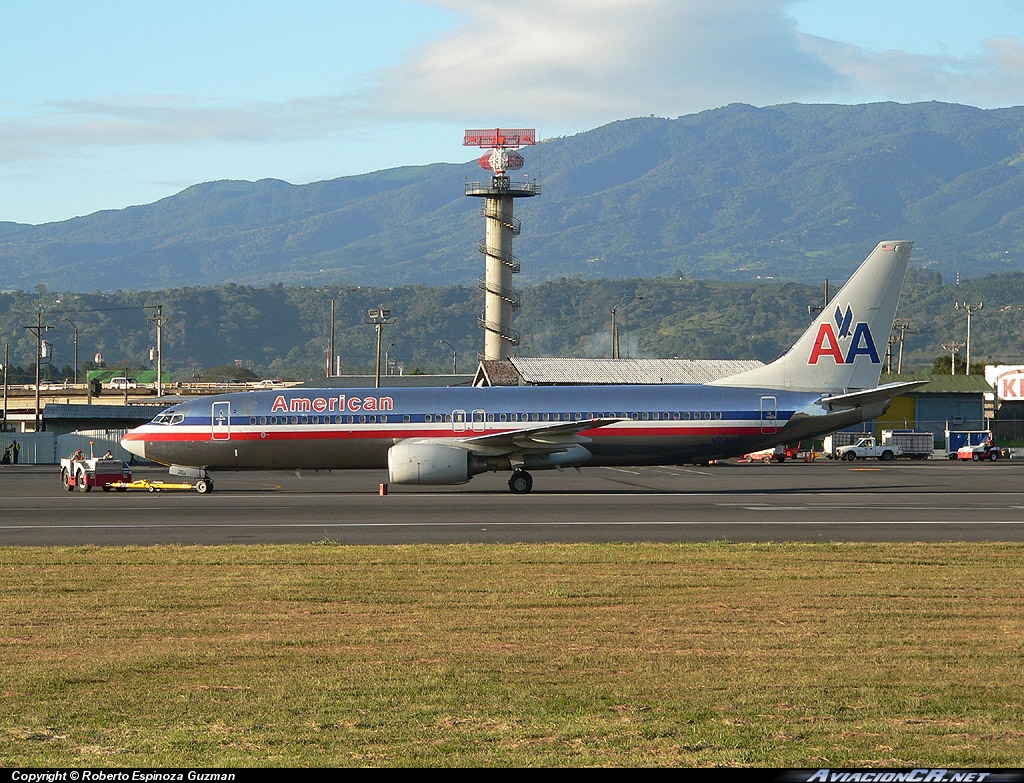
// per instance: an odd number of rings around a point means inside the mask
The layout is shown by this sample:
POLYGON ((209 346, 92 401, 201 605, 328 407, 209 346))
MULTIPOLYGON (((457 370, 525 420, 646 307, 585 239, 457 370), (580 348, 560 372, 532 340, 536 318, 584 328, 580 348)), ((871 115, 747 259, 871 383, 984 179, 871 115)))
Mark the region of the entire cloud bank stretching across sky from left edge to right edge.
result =
MULTIPOLYGON (((0 163, 104 147, 281 145, 395 123, 575 132, 737 101, 988 106, 1024 96, 1017 38, 990 39, 975 58, 872 51, 801 33, 788 12, 793 0, 419 1, 462 21, 345 92, 276 101, 122 95, 22 112, 7 104, 0 163)), ((332 83, 332 74, 324 81, 332 83)))

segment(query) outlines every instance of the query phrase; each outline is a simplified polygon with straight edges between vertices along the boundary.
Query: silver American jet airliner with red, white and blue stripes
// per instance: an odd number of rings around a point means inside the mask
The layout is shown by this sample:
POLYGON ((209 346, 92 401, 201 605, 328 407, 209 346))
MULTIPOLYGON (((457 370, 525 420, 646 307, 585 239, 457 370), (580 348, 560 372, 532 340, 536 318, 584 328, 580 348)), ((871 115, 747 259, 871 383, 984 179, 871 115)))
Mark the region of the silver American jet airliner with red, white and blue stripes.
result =
POLYGON ((709 384, 293 388, 193 399, 129 431, 129 452, 213 488, 210 470, 387 468, 392 484, 510 471, 701 465, 881 416, 878 386, 913 244, 880 243, 775 361, 709 384))

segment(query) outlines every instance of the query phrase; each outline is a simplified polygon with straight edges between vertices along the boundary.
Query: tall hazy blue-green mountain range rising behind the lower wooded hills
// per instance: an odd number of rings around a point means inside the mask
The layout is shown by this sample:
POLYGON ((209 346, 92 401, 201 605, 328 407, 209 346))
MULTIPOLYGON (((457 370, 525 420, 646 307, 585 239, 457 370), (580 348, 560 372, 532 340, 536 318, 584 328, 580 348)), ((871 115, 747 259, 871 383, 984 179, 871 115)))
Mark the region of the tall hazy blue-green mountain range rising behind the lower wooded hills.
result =
MULTIPOLYGON (((1024 106, 732 104, 623 120, 523 150, 517 284, 846 277, 884 238, 911 265, 1024 270, 1024 106), (521 282, 520 282, 521 281, 521 282)), ((293 185, 197 184, 155 204, 0 222, 0 289, 226 282, 466 285, 482 273, 465 164, 293 185)))

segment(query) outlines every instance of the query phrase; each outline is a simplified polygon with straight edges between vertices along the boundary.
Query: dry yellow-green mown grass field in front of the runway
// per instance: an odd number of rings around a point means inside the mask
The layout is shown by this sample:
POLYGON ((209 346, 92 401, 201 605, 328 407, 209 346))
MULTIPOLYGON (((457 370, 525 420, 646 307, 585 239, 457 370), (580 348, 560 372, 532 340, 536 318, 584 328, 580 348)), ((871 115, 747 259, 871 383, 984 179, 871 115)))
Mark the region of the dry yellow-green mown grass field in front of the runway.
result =
POLYGON ((1024 767, 1024 547, 0 549, 0 766, 1024 767))

